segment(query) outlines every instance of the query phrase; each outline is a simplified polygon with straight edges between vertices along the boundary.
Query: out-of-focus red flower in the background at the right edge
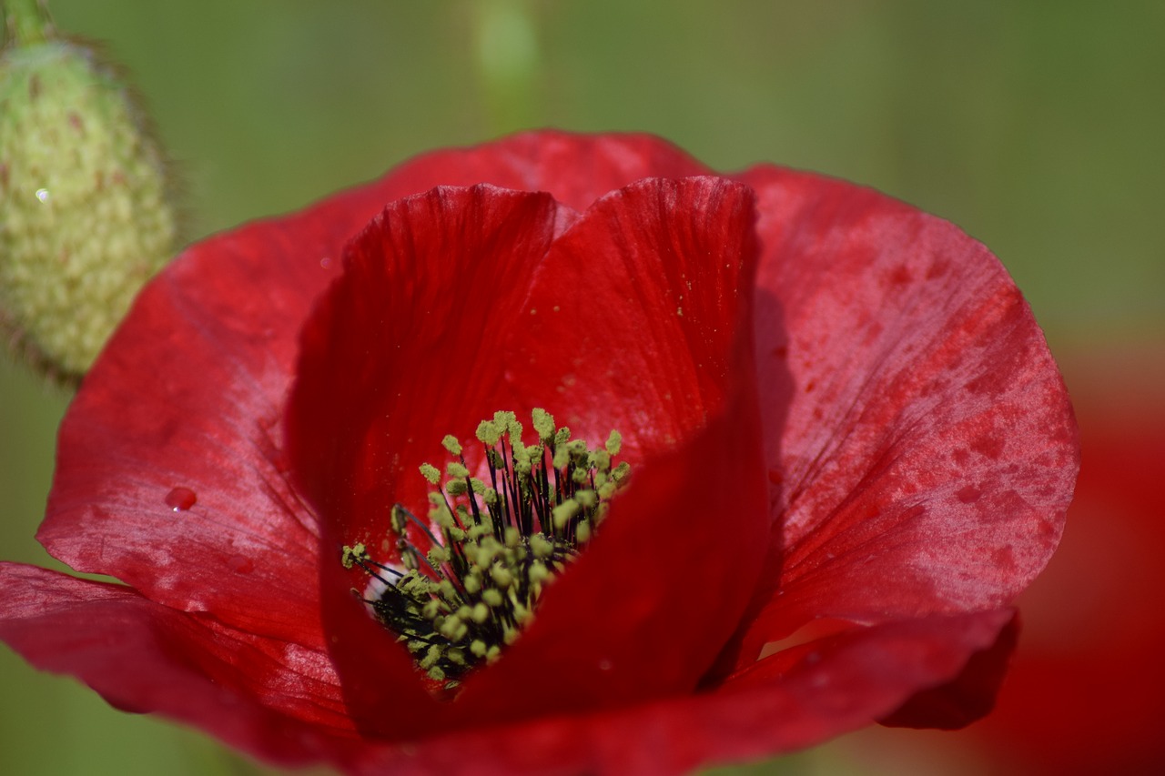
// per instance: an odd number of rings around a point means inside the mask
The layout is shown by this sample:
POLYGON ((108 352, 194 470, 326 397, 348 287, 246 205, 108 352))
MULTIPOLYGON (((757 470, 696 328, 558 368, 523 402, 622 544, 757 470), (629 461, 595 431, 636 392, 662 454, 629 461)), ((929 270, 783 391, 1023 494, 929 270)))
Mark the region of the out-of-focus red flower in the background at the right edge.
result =
MULTIPOLYGON (((1065 365, 1081 467, 1068 530, 1019 602, 1024 649, 984 725, 1001 771, 1165 768, 1165 343, 1106 345, 1065 365)), ((981 754, 981 753, 980 753, 981 754)))

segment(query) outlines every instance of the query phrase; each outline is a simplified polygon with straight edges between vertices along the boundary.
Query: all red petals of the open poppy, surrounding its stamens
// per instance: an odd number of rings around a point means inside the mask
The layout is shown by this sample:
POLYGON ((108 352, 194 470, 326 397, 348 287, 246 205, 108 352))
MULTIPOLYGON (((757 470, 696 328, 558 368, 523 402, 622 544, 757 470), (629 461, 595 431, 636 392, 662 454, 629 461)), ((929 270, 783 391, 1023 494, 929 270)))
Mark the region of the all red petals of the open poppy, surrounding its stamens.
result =
POLYGON ((651 137, 525 134, 148 285, 38 535, 123 584, 5 564, 0 636, 271 762, 672 773, 983 713, 1075 456, 1028 305, 952 225, 651 137), (341 548, 391 555, 443 436, 536 407, 621 431, 630 485, 438 697, 341 548))

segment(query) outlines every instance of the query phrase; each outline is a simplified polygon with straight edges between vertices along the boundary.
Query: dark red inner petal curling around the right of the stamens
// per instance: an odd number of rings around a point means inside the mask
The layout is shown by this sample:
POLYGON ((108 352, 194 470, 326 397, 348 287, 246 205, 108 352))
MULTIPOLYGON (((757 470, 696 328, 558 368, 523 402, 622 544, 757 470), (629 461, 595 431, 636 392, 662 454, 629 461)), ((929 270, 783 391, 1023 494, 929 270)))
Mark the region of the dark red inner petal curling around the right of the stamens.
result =
POLYGON ((732 591, 753 586, 768 532, 753 220, 743 186, 649 179, 595 203, 551 248, 513 389, 572 432, 617 428, 631 485, 466 701, 555 704, 513 689, 527 676, 555 677, 570 711, 689 692, 734 629, 747 601, 732 591))

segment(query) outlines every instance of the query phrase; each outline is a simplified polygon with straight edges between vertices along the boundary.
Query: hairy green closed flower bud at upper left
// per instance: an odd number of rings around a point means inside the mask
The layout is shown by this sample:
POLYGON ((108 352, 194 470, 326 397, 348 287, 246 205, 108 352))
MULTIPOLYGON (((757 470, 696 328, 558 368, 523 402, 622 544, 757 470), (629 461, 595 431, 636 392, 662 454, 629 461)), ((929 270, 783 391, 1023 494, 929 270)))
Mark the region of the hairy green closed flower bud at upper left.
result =
POLYGON ((178 218, 123 76, 42 31, 0 52, 0 332, 75 380, 172 255, 178 218))

